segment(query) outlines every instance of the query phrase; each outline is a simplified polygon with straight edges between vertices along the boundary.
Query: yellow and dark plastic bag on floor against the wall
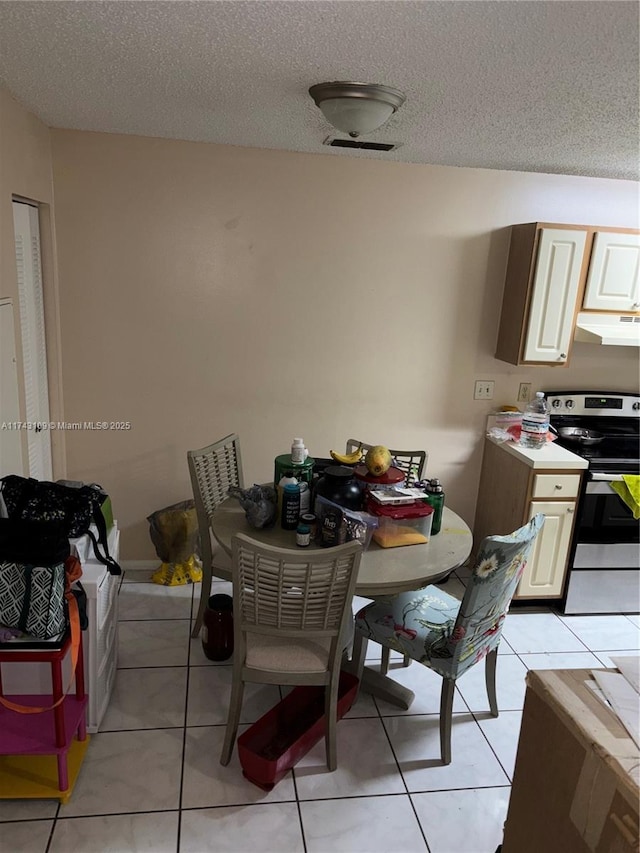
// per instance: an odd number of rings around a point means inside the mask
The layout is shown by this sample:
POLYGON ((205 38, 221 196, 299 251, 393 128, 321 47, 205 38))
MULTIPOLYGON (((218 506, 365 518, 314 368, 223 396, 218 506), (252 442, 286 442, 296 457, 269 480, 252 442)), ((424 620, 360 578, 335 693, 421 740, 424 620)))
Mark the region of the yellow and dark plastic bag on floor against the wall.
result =
POLYGON ((198 516, 193 500, 159 509, 147 516, 149 535, 162 561, 152 575, 154 583, 179 586, 202 580, 202 570, 196 558, 198 516))

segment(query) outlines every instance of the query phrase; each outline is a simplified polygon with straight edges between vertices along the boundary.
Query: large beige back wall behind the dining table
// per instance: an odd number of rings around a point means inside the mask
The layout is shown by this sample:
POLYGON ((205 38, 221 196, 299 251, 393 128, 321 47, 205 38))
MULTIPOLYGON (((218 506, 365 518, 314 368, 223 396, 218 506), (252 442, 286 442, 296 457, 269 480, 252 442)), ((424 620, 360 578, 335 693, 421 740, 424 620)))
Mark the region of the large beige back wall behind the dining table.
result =
POLYGON ((492 403, 638 388, 638 351, 493 358, 508 227, 637 227, 637 185, 52 131, 68 473, 113 495, 125 558, 190 496, 186 451, 237 431, 248 483, 303 436, 427 448, 473 521, 492 403))

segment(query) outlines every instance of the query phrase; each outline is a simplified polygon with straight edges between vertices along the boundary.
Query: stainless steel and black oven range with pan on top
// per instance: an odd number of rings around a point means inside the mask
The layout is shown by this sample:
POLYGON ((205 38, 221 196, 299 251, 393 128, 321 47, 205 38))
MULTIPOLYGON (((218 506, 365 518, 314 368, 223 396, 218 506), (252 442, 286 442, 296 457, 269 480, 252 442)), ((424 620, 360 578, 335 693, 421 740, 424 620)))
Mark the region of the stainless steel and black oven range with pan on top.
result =
POLYGON ((590 430, 595 441, 557 440, 589 463, 578 503, 565 613, 640 612, 640 522, 612 488, 640 473, 640 396, 549 391, 551 426, 590 430))

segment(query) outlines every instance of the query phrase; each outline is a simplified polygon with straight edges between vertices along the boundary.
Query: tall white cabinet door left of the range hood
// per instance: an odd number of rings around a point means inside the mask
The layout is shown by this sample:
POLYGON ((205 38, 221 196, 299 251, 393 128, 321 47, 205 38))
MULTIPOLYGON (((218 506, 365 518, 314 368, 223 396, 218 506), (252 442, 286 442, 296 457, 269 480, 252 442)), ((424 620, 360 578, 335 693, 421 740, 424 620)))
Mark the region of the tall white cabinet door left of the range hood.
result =
POLYGON ((541 230, 523 361, 566 362, 586 239, 586 231, 541 230))

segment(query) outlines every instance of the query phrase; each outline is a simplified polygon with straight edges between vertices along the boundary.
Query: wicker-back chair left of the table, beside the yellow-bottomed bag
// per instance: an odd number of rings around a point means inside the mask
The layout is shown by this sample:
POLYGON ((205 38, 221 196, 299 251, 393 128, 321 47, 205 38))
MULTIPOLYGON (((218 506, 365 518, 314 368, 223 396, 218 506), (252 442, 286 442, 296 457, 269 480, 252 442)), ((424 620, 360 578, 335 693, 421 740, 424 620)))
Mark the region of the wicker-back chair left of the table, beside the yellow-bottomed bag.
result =
POLYGON ((202 628, 204 612, 211 595, 214 565, 222 569, 227 576, 231 572, 229 556, 222 549, 218 549, 214 554, 211 547, 210 519, 218 504, 229 494, 230 486, 244 488, 240 439, 232 433, 207 447, 189 450, 187 462, 198 516, 202 557, 200 604, 191 633, 192 637, 197 637, 202 628))

